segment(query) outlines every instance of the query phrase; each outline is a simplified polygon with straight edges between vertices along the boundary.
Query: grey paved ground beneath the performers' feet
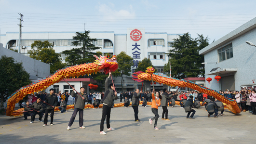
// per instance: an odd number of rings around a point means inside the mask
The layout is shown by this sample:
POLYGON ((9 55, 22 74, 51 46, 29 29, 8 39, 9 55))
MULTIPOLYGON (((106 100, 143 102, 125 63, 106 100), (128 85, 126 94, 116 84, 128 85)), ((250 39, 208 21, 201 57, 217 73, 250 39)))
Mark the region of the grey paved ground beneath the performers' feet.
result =
MULTIPOLYGON (((248 112, 234 115, 225 111, 225 116, 207 118, 204 107, 196 110, 195 119, 187 119, 183 108, 168 107, 171 121, 158 120, 159 131, 148 122, 153 117, 151 106, 139 106, 141 122, 134 122, 132 107, 117 107, 111 110, 110 125, 115 131, 99 134, 102 109, 85 109, 84 126, 79 129, 78 115, 71 129, 67 124, 73 113, 55 112, 54 126, 42 127, 35 121, 30 124, 23 117, 0 116, 0 144, 254 144, 256 140, 256 115, 248 112)), ((162 107, 159 108, 162 115, 162 107)), ((36 120, 38 115, 36 116, 36 120)), ((50 117, 48 118, 48 120, 50 117)), ((153 121, 154 123, 154 121, 153 121)))

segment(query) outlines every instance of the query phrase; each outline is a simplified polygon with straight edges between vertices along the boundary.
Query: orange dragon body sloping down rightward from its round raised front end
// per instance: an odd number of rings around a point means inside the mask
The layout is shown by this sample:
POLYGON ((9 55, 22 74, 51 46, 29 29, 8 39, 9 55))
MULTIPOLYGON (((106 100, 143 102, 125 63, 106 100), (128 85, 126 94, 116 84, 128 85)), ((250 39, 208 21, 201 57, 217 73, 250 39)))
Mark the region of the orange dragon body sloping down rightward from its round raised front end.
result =
POLYGON ((229 110, 231 112, 233 112, 234 114, 241 113, 241 111, 242 111, 241 107, 237 104, 237 102, 234 99, 229 99, 229 98, 221 95, 216 90, 212 90, 212 89, 203 87, 203 86, 196 84, 194 82, 191 82, 189 80, 170 78, 170 77, 159 75, 156 73, 151 75, 148 72, 146 72, 146 73, 145 72, 135 72, 133 74, 133 77, 135 78, 134 80, 139 81, 139 82, 141 82, 143 80, 153 79, 153 81, 156 81, 156 82, 159 82, 162 84, 166 84, 168 86, 191 88, 193 90, 197 90, 199 92, 203 92, 210 96, 213 96, 217 100, 225 103, 227 105, 225 107, 229 108, 229 110))

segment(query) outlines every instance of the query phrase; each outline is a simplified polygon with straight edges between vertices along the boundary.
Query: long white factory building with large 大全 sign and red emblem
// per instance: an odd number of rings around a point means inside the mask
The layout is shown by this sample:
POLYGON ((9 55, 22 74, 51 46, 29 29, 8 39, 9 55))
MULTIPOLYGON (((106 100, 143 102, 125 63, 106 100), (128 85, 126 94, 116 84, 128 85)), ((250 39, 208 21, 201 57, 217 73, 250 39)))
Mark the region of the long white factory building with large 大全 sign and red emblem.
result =
MULTIPOLYGON (((1 34, 0 43, 7 49, 17 49, 18 35, 19 32, 1 34)), ((94 41, 94 45, 101 47, 97 51, 103 52, 103 54, 111 53, 115 55, 124 51, 133 57, 134 66, 132 66, 132 72, 137 67, 137 63, 146 57, 151 60, 160 74, 164 74, 163 66, 168 63, 168 56, 165 53, 172 49, 173 39, 178 38, 178 35, 183 34, 151 33, 145 32, 144 28, 127 28, 126 34, 116 34, 114 31, 91 31, 89 34, 91 38, 97 39, 97 41, 94 41)), ((75 36, 75 32, 22 32, 20 53, 28 56, 27 51, 31 50, 30 46, 34 40, 48 40, 54 44, 55 52, 60 53, 74 48, 71 44, 73 36, 75 36)), ((62 59, 65 59, 63 54, 62 59)), ((117 85, 117 90, 121 91, 121 78, 113 77, 113 80, 117 85)), ((64 87, 67 87, 67 84, 65 82, 61 83, 54 84, 54 87, 58 87, 59 91, 64 92, 64 87)), ((136 88, 141 89, 141 82, 134 81, 131 76, 124 76, 123 83, 124 91, 135 91, 136 88)), ((72 84, 75 89, 79 90, 80 86, 86 86, 88 81, 73 81, 72 84)), ((152 89, 150 82, 147 82, 143 90, 149 91, 150 87, 152 89)), ((157 83, 154 87, 162 90, 168 86, 157 83)), ((87 92, 89 92, 88 86, 87 92)))

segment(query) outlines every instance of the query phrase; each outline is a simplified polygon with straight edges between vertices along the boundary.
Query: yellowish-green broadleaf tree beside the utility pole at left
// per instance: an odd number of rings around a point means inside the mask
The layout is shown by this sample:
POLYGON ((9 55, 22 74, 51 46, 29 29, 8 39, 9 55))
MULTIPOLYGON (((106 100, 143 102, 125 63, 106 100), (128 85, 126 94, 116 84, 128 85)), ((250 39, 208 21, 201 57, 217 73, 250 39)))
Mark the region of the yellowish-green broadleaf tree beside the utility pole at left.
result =
POLYGON ((27 53, 31 58, 51 65, 51 74, 66 66, 61 62, 61 55, 59 53, 55 53, 53 44, 47 40, 35 40, 34 43, 31 44, 31 50, 27 51, 27 53))

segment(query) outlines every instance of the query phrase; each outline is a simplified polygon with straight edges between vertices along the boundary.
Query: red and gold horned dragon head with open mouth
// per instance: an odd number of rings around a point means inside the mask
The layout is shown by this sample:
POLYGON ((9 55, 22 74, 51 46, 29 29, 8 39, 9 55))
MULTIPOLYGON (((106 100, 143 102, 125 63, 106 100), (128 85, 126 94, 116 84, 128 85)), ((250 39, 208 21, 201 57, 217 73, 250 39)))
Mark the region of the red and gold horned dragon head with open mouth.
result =
POLYGON ((118 68, 118 63, 117 63, 117 58, 116 55, 113 55, 112 58, 107 58, 107 56, 101 56, 97 57, 96 55, 94 55, 94 57, 96 58, 94 64, 99 65, 98 69, 100 69, 99 72, 105 72, 106 74, 108 74, 109 70, 111 72, 117 70, 118 68))

